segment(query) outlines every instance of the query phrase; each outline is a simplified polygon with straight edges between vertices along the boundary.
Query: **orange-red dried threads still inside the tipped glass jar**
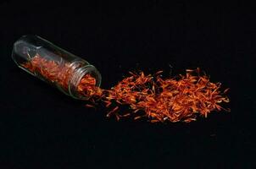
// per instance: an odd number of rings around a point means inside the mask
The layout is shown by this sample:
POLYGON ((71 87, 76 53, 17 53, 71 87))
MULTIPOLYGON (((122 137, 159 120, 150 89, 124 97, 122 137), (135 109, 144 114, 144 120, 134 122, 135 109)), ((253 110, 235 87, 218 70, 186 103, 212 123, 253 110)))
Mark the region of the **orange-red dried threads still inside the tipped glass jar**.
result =
MULTIPOLYGON (((68 90, 70 79, 74 74, 74 68, 70 67, 70 63, 58 63, 47 60, 38 54, 30 62, 23 64, 23 66, 29 69, 31 73, 40 74, 44 79, 57 84, 64 90, 68 90)), ((86 97, 102 95, 102 90, 96 86, 96 79, 90 74, 82 77, 80 83, 77 85, 77 90, 81 95, 86 97)))

